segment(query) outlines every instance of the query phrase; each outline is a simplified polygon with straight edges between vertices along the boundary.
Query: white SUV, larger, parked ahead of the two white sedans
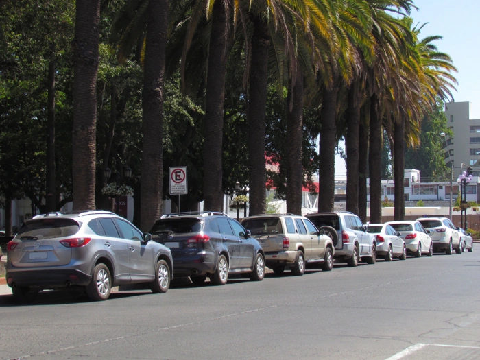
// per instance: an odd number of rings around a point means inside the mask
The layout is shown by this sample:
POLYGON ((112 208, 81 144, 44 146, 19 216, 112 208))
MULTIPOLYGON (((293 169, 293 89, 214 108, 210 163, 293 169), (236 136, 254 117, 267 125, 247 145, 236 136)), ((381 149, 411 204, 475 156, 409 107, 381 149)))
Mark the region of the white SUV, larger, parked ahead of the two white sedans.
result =
POLYGON ((444 251, 451 255, 453 249, 461 254, 460 232, 448 217, 420 217, 417 219, 427 230, 432 230, 433 251, 444 251))

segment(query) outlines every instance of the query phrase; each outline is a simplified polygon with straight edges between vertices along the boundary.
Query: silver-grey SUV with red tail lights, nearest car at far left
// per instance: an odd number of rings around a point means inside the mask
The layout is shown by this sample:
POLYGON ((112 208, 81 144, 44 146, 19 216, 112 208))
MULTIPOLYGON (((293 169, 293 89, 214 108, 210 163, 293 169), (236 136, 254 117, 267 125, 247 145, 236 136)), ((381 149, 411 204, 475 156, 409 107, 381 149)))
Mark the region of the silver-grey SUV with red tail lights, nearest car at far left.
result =
POLYGON ((92 300, 106 300, 113 286, 134 283, 165 293, 173 260, 168 248, 150 239, 108 211, 37 215, 8 243, 7 283, 19 300, 65 287, 82 287, 92 300))

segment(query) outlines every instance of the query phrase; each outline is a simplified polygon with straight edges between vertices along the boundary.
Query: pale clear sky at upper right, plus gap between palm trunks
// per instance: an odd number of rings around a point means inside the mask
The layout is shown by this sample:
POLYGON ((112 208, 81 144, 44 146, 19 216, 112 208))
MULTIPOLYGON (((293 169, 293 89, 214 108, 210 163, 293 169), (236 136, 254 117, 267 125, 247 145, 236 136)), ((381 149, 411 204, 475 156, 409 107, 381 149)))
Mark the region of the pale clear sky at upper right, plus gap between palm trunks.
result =
MULTIPOLYGON (((411 12, 415 24, 428 23, 420 38, 442 36, 435 42, 448 53, 458 70, 455 101, 470 101, 470 119, 480 119, 480 0, 413 0, 418 10, 411 12)), ((343 147, 344 145, 341 144, 343 147)), ((345 163, 335 158, 335 175, 345 175, 345 163)))

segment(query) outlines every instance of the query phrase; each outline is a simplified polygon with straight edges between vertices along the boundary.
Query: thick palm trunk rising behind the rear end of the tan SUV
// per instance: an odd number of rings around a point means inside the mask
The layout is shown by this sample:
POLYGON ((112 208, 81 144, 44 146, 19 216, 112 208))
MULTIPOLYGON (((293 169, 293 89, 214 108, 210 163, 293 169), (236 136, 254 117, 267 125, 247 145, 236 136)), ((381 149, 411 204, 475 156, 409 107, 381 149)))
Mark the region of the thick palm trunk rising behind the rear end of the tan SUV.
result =
MULTIPOLYGON (((250 215, 267 210, 265 182, 265 116, 267 111, 268 49, 270 37, 266 21, 254 18, 252 60, 250 62, 250 94, 248 101, 248 178, 250 215)), ((246 207, 245 207, 246 212, 246 207)))

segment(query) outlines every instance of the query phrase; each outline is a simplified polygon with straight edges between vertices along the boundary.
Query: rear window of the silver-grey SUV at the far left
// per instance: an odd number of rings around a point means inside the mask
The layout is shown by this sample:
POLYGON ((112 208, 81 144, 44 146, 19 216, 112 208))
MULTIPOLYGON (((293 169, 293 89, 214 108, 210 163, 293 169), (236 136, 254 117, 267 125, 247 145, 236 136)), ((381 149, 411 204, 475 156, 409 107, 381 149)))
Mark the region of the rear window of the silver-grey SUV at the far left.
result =
POLYGON ((80 224, 73 219, 34 219, 25 222, 17 233, 17 239, 40 240, 75 235, 80 224))

